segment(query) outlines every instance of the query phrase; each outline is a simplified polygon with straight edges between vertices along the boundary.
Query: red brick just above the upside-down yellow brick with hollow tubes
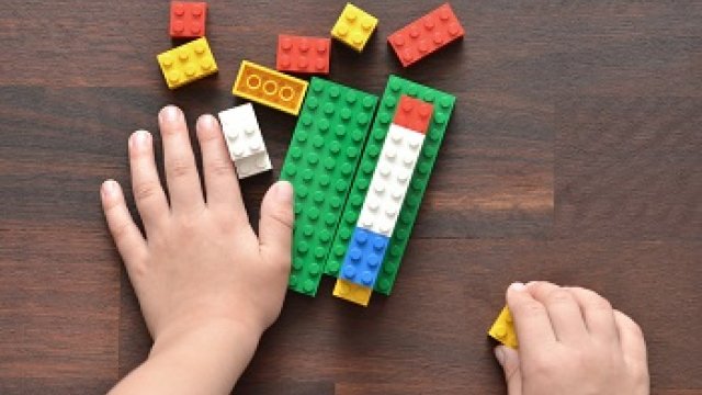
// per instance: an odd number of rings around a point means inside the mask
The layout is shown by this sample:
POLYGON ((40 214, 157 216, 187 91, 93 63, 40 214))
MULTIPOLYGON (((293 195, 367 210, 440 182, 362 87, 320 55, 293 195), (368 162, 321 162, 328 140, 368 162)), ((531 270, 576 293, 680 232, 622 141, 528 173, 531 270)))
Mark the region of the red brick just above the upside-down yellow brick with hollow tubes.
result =
POLYGON ((280 34, 275 68, 279 71, 329 74, 331 40, 280 34))

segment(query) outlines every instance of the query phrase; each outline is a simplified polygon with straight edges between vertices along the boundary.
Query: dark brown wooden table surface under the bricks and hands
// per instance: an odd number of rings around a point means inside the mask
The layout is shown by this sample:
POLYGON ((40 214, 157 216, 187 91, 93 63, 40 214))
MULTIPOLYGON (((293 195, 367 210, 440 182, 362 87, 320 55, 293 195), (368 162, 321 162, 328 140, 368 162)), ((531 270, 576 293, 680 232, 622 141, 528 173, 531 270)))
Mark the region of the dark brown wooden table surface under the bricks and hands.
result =
MULTIPOLYGON (((654 394, 702 394, 702 2, 454 1, 467 37, 407 70, 385 40, 439 3, 358 4, 378 31, 335 44, 330 78, 381 94, 398 74, 456 109, 394 294, 288 294, 236 393, 503 394, 486 329, 510 282, 546 279, 642 325, 654 394)), ((167 1, 3 2, 1 394, 101 393, 145 358, 101 181, 128 185, 126 138, 159 108, 240 103, 241 59, 274 65, 278 33, 325 36, 341 8, 210 1, 220 71, 172 92, 167 1)), ((295 117, 257 112, 280 169, 295 117)), ((244 181, 252 219, 276 178, 244 181)))

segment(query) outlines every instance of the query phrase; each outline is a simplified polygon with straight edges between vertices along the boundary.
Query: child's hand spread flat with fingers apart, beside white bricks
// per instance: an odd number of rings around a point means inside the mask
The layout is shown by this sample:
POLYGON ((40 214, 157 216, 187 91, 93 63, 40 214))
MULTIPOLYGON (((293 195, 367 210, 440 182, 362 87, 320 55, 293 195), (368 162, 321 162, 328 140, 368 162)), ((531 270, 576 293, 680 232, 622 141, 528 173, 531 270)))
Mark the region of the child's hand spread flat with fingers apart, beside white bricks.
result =
MULTIPOLYGON (((200 363, 200 357, 239 352, 242 356, 226 362, 230 365, 216 366, 233 372, 227 381, 236 380, 283 304, 291 260, 292 187, 279 182, 268 191, 257 238, 217 121, 212 115, 197 121, 204 192, 183 113, 167 106, 159 125, 168 198, 156 170, 151 135, 136 132, 128 143, 132 184, 146 238, 129 216, 120 185, 111 180, 101 193, 107 225, 154 338, 149 360, 170 352, 182 371, 194 372, 186 360, 200 363), (211 347, 210 341, 215 343, 211 347)), ((196 388, 208 393, 206 385, 196 388)), ((154 387, 149 390, 154 393, 154 387)), ((228 391, 227 385, 222 390, 228 391)))

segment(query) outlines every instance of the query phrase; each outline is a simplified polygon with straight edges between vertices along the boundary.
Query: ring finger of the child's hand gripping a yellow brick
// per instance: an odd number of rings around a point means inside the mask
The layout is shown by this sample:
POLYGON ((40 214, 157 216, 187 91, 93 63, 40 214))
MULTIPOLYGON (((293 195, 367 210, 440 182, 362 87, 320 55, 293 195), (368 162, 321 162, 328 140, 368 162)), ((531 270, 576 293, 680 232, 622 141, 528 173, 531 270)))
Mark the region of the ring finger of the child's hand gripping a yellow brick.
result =
POLYGON ((580 305, 590 336, 608 342, 616 342, 616 324, 612 305, 597 292, 582 287, 567 287, 580 305))

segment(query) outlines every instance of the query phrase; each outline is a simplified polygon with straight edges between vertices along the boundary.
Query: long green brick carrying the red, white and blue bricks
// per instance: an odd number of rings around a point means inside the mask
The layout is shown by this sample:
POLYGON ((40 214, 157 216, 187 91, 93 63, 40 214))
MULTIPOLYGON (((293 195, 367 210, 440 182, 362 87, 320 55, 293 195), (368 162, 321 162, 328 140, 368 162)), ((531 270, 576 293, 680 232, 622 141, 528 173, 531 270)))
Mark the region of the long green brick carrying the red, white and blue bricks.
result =
POLYGON ((356 177, 351 187, 351 192, 349 193, 349 199, 347 200, 347 205, 342 214, 342 221, 337 228, 331 252, 325 264, 325 273, 338 276, 339 268, 341 263, 343 263, 343 257, 347 252, 349 239, 351 238, 359 214, 363 207, 363 200, 365 199, 371 178, 373 177, 385 135, 389 129, 401 94, 432 103, 434 105, 434 113, 429 129, 427 131, 427 137, 415 172, 412 173, 409 190, 407 191, 403 208, 395 225, 387 253, 383 260, 383 267, 375 282, 375 291, 385 295, 390 294, 395 284, 395 279, 397 278, 397 272, 403 256, 405 255, 407 242, 409 241, 409 235, 411 234, 417 213, 419 212, 424 191, 427 190, 439 148, 443 142, 449 119, 453 112, 455 97, 397 76, 390 76, 385 93, 381 99, 381 106, 375 116, 375 122, 371 128, 371 137, 363 151, 361 165, 359 166, 356 177))

